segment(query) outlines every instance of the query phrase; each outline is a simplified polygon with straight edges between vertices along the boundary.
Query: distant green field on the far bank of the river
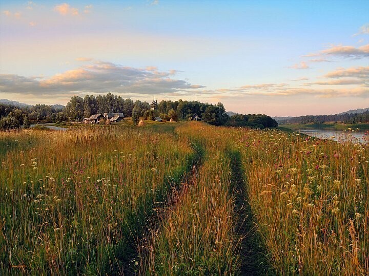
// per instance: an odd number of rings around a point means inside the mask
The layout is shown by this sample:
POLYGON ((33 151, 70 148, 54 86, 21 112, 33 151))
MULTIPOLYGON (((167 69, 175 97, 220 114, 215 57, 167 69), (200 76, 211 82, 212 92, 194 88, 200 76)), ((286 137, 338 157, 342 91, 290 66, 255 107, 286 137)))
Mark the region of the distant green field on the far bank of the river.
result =
POLYGON ((324 122, 324 123, 291 123, 291 124, 281 124, 283 128, 288 128, 292 130, 315 130, 315 129, 325 129, 325 130, 338 130, 343 131, 348 128, 356 130, 359 128, 360 130, 369 130, 369 124, 367 123, 335 123, 335 122, 324 122))

